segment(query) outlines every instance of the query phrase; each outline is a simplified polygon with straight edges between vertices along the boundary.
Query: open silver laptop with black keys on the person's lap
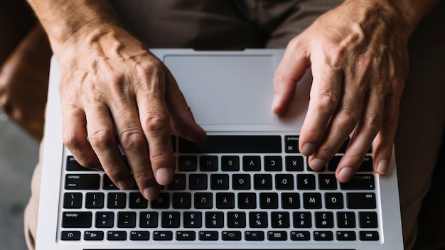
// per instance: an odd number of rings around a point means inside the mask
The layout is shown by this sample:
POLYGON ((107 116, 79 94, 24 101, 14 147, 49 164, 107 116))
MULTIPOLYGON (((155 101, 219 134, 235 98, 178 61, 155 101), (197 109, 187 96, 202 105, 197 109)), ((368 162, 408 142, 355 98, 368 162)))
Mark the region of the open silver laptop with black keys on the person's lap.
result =
POLYGON ((60 68, 50 67, 38 250, 403 249, 394 156, 372 173, 371 151, 349 183, 336 163, 313 171, 298 150, 311 72, 291 108, 272 114, 284 50, 153 50, 171 70, 203 143, 171 135, 173 182, 154 201, 82 168, 63 146, 60 68))

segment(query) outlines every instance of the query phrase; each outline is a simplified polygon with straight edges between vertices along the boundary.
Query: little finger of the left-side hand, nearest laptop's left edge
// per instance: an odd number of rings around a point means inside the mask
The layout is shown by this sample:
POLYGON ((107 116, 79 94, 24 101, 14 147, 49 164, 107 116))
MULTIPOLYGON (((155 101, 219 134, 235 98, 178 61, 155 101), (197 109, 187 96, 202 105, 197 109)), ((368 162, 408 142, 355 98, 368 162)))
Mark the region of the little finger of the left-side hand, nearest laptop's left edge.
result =
POLYGON ((75 105, 62 102, 62 114, 62 133, 65 146, 73 153, 80 165, 94 170, 103 170, 95 151, 87 140, 85 112, 75 105))

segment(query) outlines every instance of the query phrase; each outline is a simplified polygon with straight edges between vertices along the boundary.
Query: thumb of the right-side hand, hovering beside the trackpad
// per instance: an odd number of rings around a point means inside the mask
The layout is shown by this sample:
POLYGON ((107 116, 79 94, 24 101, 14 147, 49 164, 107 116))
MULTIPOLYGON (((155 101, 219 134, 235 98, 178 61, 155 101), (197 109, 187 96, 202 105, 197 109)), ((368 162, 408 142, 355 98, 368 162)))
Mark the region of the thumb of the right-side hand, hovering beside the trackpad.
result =
POLYGON ((294 98, 297 82, 301 80, 310 62, 304 53, 304 48, 298 40, 292 40, 284 52, 274 75, 274 101, 272 112, 282 114, 294 98))

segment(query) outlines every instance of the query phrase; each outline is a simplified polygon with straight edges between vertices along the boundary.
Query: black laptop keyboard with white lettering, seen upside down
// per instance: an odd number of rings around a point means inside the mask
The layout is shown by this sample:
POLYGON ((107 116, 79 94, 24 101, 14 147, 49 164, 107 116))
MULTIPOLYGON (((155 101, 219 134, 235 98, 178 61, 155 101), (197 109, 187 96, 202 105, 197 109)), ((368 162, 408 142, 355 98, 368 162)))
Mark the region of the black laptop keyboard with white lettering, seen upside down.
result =
POLYGON ((65 160, 61 241, 380 241, 378 175, 370 152, 349 183, 334 175, 348 141, 313 171, 299 136, 172 136, 176 174, 147 201, 119 190, 104 172, 65 160))

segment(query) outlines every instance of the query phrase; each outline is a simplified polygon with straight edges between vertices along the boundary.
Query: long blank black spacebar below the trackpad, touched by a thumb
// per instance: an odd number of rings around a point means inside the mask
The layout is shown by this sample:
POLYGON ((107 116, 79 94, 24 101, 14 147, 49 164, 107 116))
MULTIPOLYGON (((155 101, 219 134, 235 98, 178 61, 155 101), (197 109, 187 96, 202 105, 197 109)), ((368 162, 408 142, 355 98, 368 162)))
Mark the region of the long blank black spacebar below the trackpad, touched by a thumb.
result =
POLYGON ((179 138, 181 153, 281 153, 282 136, 207 136, 201 143, 179 138))

